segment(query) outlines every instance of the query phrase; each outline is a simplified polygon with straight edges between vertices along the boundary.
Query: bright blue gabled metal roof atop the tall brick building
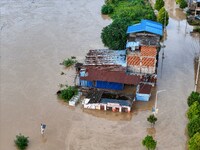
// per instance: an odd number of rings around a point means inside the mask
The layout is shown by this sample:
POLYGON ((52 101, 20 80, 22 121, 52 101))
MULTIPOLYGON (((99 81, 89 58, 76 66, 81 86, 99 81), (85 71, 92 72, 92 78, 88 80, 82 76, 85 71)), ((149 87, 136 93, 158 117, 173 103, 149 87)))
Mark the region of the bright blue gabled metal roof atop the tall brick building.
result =
POLYGON ((137 32, 150 32, 162 36, 163 26, 161 23, 143 19, 141 23, 129 26, 126 33, 129 34, 137 32))

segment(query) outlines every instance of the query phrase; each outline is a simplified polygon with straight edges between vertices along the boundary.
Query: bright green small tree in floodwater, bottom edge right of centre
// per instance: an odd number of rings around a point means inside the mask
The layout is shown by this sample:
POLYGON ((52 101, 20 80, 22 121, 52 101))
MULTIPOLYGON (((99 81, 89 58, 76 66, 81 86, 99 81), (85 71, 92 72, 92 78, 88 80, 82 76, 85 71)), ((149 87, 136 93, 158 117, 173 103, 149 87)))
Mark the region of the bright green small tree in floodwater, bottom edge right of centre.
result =
POLYGON ((144 145, 148 150, 155 150, 157 142, 153 139, 152 136, 147 135, 143 140, 142 140, 142 145, 144 145))

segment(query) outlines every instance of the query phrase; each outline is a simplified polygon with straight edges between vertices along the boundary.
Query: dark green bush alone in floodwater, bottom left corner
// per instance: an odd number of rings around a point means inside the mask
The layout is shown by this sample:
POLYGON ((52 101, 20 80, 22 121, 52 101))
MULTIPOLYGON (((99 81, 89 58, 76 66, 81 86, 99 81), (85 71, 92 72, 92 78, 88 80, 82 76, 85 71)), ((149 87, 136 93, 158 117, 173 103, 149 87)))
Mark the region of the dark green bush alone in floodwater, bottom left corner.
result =
POLYGON ((25 137, 20 133, 19 135, 16 135, 14 142, 19 150, 25 150, 28 146, 29 140, 28 137, 25 137))

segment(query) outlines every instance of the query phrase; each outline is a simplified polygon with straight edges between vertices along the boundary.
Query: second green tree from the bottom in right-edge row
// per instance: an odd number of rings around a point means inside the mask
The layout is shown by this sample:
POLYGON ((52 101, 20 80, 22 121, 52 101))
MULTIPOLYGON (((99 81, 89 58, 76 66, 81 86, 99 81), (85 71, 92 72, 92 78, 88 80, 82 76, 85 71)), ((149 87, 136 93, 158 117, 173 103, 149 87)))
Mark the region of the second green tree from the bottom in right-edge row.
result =
POLYGON ((200 132, 200 117, 192 119, 188 123, 188 135, 191 138, 195 133, 200 132))

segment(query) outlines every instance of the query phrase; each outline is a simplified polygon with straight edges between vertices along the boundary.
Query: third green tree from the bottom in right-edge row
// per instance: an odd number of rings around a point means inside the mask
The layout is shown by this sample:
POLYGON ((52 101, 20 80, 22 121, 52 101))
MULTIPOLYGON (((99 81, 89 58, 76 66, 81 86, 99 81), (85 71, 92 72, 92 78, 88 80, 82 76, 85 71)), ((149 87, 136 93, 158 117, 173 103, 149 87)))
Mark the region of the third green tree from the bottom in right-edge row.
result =
POLYGON ((190 120, 200 117, 200 104, 198 101, 195 101, 188 109, 187 116, 190 120))

